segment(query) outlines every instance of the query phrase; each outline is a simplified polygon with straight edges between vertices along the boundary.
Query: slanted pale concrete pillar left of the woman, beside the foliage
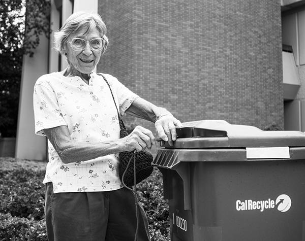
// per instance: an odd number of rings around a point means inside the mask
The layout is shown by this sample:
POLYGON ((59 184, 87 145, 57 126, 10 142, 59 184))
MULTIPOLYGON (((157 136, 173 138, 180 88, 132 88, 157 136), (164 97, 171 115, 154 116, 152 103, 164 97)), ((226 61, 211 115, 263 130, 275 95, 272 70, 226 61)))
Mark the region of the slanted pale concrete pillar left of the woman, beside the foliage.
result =
POLYGON ((36 80, 48 73, 49 41, 40 38, 34 57, 24 56, 22 64, 19 114, 16 138, 16 158, 46 160, 46 138, 35 135, 33 88, 36 80))

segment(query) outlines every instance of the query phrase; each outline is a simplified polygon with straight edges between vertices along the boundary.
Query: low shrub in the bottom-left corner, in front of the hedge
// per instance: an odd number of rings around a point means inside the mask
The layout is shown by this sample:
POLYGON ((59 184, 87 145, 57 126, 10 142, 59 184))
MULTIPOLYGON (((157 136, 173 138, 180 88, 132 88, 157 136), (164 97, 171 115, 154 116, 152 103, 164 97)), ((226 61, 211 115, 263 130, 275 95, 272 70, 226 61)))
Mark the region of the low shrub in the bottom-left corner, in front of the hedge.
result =
POLYGON ((0 213, 0 237, 6 240, 44 241, 48 240, 45 221, 33 218, 12 217, 0 213))

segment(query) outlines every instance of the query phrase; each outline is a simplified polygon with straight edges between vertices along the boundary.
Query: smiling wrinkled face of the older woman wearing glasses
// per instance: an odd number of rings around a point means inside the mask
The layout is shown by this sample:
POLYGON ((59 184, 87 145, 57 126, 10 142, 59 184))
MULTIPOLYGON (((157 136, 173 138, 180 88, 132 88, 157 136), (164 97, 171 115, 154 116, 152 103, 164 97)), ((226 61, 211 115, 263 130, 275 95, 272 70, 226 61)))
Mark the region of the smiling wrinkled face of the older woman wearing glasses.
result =
POLYGON ((78 33, 72 34, 67 39, 65 46, 66 56, 68 63, 72 68, 74 75, 90 74, 93 72, 95 66, 98 64, 101 58, 102 50, 93 50, 90 48, 89 41, 92 39, 102 38, 99 30, 93 28, 89 31, 82 30, 78 33), (86 46, 83 50, 73 50, 71 48, 72 39, 80 38, 86 40, 86 46))

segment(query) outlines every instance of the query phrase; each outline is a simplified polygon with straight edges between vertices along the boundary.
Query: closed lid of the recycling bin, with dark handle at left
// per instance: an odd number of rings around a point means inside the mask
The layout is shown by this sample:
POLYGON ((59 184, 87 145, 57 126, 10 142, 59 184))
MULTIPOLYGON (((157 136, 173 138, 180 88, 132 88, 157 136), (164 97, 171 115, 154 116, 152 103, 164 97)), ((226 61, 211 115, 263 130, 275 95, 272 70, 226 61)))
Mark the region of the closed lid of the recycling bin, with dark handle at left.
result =
POLYGON ((249 125, 229 124, 224 120, 201 120, 183 123, 176 128, 177 140, 171 149, 243 148, 243 147, 305 147, 301 131, 261 130, 249 125))

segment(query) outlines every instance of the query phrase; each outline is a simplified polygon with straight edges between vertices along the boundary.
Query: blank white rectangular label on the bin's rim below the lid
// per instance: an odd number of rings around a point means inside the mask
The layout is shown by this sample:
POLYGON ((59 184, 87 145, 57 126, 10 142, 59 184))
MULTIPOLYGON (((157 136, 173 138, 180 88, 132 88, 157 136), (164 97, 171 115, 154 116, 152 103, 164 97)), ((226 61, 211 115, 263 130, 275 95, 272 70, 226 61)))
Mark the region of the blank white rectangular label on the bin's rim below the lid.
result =
POLYGON ((246 147, 247 159, 290 158, 289 147, 246 147))

